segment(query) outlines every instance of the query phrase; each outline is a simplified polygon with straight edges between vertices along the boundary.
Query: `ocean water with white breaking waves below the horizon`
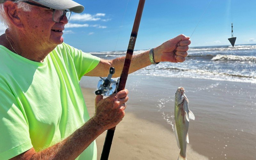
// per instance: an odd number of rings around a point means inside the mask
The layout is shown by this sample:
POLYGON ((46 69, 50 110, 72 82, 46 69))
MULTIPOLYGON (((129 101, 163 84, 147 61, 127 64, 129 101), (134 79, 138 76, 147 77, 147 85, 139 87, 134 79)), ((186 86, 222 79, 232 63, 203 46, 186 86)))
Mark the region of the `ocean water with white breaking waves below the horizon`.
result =
MULTIPOLYGON (((134 51, 138 54, 143 50, 134 51)), ((124 56, 126 51, 91 52, 104 59, 124 56)), ((256 44, 190 47, 183 63, 161 62, 135 72, 137 75, 188 77, 256 83, 256 44)))

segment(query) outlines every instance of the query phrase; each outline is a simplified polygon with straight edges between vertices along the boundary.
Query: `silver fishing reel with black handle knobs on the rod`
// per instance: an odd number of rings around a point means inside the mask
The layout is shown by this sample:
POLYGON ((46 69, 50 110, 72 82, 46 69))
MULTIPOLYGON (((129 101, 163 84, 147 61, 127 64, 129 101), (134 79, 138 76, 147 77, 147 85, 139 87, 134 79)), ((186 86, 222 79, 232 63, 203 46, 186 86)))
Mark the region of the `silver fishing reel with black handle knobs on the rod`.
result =
POLYGON ((117 92, 118 84, 120 81, 120 78, 114 80, 112 78, 113 74, 115 73, 115 68, 110 67, 109 68, 109 74, 107 77, 100 77, 100 80, 97 84, 97 91, 95 91, 96 95, 103 95, 103 96, 110 96, 113 93, 117 92))

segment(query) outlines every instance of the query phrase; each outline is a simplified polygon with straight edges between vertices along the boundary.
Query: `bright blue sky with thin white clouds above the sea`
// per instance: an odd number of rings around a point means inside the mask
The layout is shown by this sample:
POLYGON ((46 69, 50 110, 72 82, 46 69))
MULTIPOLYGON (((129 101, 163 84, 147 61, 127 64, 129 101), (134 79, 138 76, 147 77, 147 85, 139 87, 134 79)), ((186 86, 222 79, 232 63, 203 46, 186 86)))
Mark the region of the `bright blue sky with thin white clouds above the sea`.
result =
MULTIPOLYGON (((72 13, 65 26, 65 43, 84 52, 127 49, 139 0, 75 1, 85 10, 72 13)), ((209 1, 146 0, 135 49, 156 47, 179 34, 191 36, 209 1)), ((232 0, 236 44, 256 43, 255 6, 255 0, 232 0)), ((212 0, 191 37, 191 46, 230 45, 230 37, 231 0, 212 0)))

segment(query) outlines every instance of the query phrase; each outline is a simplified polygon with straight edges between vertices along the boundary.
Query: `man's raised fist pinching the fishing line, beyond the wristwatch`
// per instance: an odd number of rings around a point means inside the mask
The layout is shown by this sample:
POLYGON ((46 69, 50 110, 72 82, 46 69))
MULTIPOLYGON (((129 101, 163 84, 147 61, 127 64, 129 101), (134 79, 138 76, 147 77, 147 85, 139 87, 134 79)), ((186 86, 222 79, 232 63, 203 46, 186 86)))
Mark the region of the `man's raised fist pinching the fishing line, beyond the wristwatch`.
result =
POLYGON ((183 62, 188 53, 189 37, 179 35, 172 38, 154 49, 155 62, 183 62))

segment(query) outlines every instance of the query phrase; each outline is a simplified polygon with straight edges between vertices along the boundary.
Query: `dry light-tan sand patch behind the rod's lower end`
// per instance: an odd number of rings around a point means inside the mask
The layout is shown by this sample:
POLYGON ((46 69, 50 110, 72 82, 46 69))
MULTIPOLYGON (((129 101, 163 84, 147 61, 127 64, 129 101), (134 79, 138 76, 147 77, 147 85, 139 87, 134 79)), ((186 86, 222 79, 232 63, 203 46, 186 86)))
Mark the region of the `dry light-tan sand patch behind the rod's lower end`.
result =
MULTIPOLYGON (((86 105, 90 115, 92 115, 94 113, 95 90, 91 88, 82 88, 82 90, 86 95, 84 96, 86 105)), ((162 123, 161 121, 164 121, 159 114, 156 115, 150 111, 140 111, 134 114, 132 112, 135 112, 134 108, 137 106, 129 103, 128 105, 131 109, 126 109, 123 121, 116 127, 109 159, 177 159, 180 149, 177 147, 171 126, 168 126, 168 129, 159 125, 162 123), (143 115, 143 117, 138 117, 138 114, 143 115)), ((98 159, 100 159, 106 133, 104 132, 96 139, 98 159)), ((194 160, 208 159, 193 151, 189 145, 187 156, 194 160)))

